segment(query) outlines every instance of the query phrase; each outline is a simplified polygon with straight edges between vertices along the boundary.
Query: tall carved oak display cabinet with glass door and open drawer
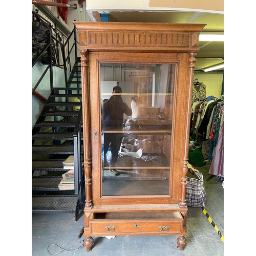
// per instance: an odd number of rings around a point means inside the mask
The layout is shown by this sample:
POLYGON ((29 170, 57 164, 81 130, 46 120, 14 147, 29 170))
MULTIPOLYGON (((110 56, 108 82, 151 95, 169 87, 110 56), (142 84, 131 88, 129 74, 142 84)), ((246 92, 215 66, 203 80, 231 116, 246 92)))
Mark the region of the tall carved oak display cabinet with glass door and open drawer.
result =
MULTIPOLYGON (((176 235, 186 245, 186 174, 194 63, 205 24, 74 22, 81 55, 84 246, 94 236, 176 235), (102 125, 119 86, 133 114, 102 125), (121 137, 115 169, 104 136, 121 137)), ((121 106, 120 106, 121 108, 121 106)))

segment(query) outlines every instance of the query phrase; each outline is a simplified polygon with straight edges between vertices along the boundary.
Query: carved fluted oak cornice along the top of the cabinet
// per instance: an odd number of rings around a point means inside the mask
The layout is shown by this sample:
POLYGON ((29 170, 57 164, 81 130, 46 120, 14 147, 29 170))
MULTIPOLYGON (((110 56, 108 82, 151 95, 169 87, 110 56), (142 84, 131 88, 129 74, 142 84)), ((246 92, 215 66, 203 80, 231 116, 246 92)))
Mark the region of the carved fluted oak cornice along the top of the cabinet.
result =
POLYGON ((89 23, 74 22, 79 31, 79 49, 188 51, 199 50, 204 24, 89 23), (183 26, 181 26, 183 25, 183 26))

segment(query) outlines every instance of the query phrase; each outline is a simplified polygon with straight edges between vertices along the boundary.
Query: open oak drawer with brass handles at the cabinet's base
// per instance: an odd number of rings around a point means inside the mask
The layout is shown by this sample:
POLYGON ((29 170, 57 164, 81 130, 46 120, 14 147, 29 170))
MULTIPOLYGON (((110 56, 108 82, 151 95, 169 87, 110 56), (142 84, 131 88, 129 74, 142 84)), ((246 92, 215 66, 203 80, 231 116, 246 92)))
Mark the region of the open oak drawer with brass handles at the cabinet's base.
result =
POLYGON ((174 234, 183 232, 180 212, 112 212, 94 215, 92 236, 174 234))

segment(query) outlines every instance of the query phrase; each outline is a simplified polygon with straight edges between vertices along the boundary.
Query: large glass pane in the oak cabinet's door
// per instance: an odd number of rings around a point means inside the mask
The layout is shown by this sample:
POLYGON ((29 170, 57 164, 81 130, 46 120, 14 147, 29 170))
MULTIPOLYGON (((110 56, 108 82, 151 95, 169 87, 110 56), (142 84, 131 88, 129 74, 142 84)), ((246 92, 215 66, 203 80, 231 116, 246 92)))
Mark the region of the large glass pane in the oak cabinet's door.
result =
POLYGON ((102 196, 169 195, 175 68, 100 63, 102 196))

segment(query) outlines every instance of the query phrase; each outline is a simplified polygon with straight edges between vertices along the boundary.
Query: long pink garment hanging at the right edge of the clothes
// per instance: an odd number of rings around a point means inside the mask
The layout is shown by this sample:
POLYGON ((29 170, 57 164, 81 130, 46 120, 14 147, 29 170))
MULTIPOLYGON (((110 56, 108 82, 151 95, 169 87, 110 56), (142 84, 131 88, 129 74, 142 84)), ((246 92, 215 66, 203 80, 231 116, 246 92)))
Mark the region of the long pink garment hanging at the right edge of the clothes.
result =
POLYGON ((214 158, 211 161, 209 174, 212 175, 224 175, 224 120, 220 127, 219 138, 215 148, 214 158))

